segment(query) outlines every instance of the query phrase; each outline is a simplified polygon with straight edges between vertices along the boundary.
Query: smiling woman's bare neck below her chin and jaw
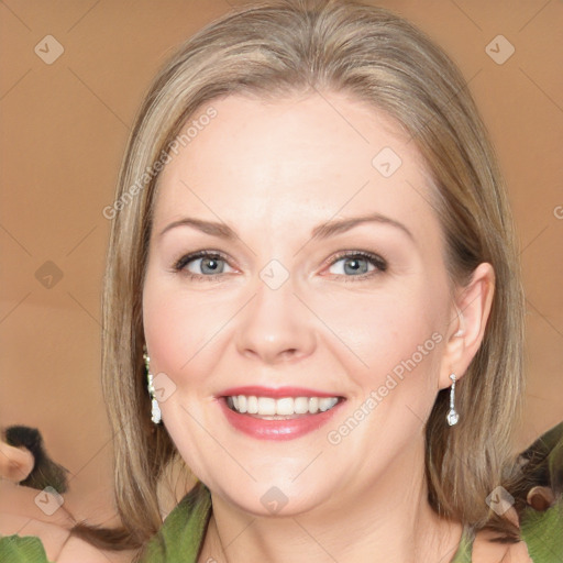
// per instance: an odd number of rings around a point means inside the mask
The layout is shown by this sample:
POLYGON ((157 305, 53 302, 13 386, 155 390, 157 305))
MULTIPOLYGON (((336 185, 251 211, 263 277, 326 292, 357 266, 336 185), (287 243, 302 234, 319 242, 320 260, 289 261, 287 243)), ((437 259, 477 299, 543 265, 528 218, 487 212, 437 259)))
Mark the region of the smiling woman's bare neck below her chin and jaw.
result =
POLYGON ((451 561, 462 527, 431 509, 423 467, 421 443, 369 487, 352 484, 330 506, 294 516, 249 515, 212 496, 199 563, 451 561))

